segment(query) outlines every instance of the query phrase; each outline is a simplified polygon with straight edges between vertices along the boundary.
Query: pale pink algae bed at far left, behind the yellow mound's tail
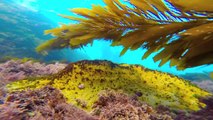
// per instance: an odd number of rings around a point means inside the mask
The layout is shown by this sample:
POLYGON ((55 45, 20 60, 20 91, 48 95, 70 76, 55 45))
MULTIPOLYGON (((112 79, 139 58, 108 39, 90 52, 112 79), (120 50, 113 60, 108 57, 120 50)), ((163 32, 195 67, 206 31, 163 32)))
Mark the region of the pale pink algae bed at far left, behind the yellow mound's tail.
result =
POLYGON ((44 64, 28 61, 22 63, 20 60, 10 60, 0 64, 0 81, 14 81, 24 79, 29 76, 43 76, 55 74, 64 69, 66 64, 44 64))

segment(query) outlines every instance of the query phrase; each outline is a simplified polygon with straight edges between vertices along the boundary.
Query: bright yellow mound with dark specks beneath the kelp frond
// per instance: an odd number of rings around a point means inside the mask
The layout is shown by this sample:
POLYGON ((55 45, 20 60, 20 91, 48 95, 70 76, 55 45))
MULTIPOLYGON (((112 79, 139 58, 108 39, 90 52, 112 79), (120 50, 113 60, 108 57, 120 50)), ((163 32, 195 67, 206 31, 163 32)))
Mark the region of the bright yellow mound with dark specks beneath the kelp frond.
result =
POLYGON ((183 79, 151 71, 139 65, 114 64, 108 61, 80 61, 60 73, 44 78, 25 79, 7 85, 9 91, 51 85, 61 90, 68 102, 90 111, 102 90, 119 90, 129 95, 140 93, 139 100, 152 106, 199 110, 205 104, 199 97, 211 94, 183 79))

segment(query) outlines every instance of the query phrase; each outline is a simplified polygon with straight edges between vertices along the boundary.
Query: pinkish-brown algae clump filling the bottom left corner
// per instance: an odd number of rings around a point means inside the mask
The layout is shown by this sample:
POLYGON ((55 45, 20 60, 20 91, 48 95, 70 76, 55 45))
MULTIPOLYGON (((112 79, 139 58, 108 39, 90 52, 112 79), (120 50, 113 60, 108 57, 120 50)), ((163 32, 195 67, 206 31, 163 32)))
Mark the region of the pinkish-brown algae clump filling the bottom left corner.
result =
POLYGON ((59 90, 44 87, 14 92, 0 105, 1 120, 97 120, 83 110, 66 103, 59 90))

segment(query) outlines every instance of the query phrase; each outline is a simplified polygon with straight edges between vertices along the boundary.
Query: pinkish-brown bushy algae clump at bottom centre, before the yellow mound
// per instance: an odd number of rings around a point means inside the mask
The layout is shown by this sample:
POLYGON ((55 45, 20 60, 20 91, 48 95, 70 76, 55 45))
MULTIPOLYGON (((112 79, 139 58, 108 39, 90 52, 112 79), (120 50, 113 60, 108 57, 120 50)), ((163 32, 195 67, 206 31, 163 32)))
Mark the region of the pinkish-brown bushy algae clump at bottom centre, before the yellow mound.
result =
POLYGON ((121 92, 103 91, 94 104, 93 115, 100 120, 172 120, 167 114, 158 113, 137 97, 129 97, 121 92))

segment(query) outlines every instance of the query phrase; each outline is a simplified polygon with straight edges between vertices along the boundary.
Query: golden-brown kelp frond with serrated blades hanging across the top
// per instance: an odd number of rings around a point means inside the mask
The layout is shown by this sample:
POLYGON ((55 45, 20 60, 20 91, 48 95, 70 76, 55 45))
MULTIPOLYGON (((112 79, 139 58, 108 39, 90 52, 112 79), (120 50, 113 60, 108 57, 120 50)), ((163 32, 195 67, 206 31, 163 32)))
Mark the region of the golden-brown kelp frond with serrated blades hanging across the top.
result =
POLYGON ((47 30, 54 39, 37 48, 38 52, 64 47, 79 48, 94 39, 112 40, 112 46, 147 49, 143 59, 158 52, 160 65, 170 61, 178 69, 213 63, 213 1, 206 0, 104 0, 105 7, 75 8, 83 16, 61 15, 78 21, 47 30))

